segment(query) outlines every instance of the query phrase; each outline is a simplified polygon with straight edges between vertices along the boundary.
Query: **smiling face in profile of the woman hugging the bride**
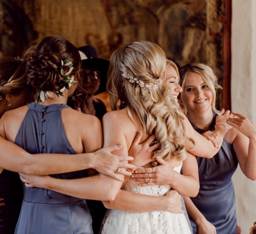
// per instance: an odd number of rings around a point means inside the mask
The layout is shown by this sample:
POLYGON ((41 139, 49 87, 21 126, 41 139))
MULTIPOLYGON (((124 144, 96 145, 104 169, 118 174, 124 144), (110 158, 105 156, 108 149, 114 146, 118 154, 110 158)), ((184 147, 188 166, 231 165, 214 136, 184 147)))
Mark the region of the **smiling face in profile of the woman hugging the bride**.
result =
POLYGON ((178 95, 180 92, 182 92, 182 88, 179 85, 179 76, 176 72, 176 70, 168 65, 166 68, 166 79, 165 84, 171 91, 171 94, 173 95, 173 98, 175 99, 175 102, 178 104, 178 95))

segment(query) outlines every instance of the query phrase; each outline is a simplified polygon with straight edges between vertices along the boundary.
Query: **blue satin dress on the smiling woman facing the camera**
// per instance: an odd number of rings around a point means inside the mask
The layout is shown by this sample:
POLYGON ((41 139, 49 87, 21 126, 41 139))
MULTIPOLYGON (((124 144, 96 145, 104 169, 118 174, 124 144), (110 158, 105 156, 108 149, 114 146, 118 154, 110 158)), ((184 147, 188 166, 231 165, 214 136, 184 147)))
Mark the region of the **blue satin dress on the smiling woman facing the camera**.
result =
MULTIPOLYGON (((209 130, 215 129, 216 114, 210 124, 209 130)), ((192 124, 192 123, 191 123, 192 124)), ((193 128, 200 134, 205 132, 192 124, 193 128)), ((215 159, 196 157, 198 163, 199 193, 192 202, 205 216, 205 218, 216 227, 217 234, 236 234, 236 200, 234 185, 231 180, 236 171, 238 160, 234 148, 225 139, 215 159)), ((190 220, 193 233, 197 227, 190 220)))

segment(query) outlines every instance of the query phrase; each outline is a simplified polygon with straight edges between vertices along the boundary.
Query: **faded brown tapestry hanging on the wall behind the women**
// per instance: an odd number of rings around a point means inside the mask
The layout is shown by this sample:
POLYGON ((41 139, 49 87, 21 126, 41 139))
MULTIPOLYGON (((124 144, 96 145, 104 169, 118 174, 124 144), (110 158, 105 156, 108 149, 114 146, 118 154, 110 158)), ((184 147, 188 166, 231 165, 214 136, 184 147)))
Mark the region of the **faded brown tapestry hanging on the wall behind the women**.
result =
MULTIPOLYGON (((230 72, 225 73, 230 65, 224 69, 227 64, 224 60, 230 58, 224 58, 223 48, 225 35, 230 33, 230 28, 225 28, 231 19, 226 14, 230 0, 1 2, 0 49, 4 55, 19 55, 33 43, 37 33, 35 43, 47 35, 60 35, 77 47, 93 46, 99 58, 104 59, 109 59, 116 48, 128 41, 148 40, 163 47, 179 66, 190 62, 206 63, 213 68, 221 84, 224 78, 228 80, 224 88, 230 87, 230 72)), ((229 99, 228 91, 226 93, 229 99)), ((222 92, 218 98, 222 103, 222 92)))

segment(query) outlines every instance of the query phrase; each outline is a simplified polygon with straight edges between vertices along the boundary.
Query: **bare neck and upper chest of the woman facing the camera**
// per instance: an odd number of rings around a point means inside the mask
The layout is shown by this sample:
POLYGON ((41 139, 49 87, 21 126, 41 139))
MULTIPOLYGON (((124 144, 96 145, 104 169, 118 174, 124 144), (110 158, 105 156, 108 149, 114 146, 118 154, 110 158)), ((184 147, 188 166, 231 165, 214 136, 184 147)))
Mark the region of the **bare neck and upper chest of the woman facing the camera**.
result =
POLYGON ((212 109, 205 112, 192 112, 191 110, 186 115, 191 123, 196 127, 207 130, 212 122, 213 114, 212 109))

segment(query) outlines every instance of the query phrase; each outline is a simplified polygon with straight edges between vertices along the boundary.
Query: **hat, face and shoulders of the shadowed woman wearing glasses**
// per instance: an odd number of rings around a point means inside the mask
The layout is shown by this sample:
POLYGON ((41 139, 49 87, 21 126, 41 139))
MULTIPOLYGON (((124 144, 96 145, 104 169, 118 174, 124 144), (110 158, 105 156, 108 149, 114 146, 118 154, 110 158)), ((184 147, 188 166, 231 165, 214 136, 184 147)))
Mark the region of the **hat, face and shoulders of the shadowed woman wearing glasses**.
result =
POLYGON ((107 70, 109 61, 100 59, 92 46, 82 46, 78 48, 83 63, 82 88, 76 91, 77 101, 70 100, 68 105, 85 114, 95 115, 100 121, 107 112, 103 101, 94 96, 102 93, 106 89, 107 70))

